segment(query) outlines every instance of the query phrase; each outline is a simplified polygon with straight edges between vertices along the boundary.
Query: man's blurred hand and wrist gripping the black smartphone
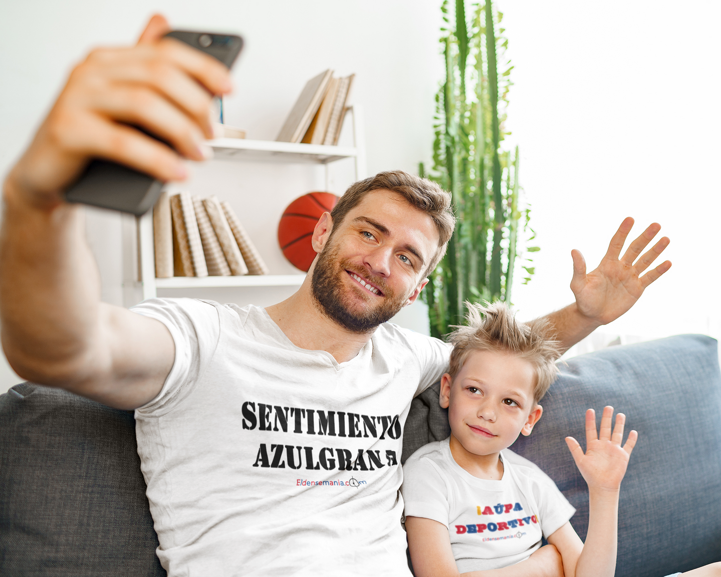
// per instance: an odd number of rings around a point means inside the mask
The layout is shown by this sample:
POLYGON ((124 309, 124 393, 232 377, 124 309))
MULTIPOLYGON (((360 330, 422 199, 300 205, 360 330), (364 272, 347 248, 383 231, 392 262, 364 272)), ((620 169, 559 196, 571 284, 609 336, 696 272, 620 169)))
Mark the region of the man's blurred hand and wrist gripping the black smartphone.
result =
POLYGON ((185 179, 184 157, 208 157, 211 102, 231 91, 229 69, 200 50, 164 38, 169 30, 167 20, 155 15, 137 45, 93 50, 76 66, 8 175, 6 195, 50 210, 63 203, 63 191, 92 157, 164 181, 185 179))

